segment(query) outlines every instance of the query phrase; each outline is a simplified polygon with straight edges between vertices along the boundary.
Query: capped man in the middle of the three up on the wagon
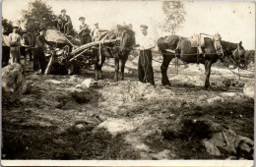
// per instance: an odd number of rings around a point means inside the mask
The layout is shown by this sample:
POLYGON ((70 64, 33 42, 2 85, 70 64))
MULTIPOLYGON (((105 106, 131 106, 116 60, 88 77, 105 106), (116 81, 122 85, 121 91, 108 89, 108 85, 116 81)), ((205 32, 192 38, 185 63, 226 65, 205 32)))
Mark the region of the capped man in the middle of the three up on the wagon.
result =
POLYGON ((89 42, 92 42, 92 37, 91 37, 91 30, 88 27, 87 24, 85 24, 86 18, 80 17, 79 21, 81 22, 81 25, 79 26, 80 31, 78 32, 79 37, 81 39, 81 44, 87 44, 89 42))

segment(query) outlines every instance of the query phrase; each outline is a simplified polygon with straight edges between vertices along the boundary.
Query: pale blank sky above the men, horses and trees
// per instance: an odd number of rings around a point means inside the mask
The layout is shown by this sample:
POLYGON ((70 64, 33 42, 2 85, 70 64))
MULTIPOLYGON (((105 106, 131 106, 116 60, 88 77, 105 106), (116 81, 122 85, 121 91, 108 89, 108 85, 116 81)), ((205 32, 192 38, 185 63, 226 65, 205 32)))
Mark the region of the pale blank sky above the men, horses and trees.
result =
MULTIPOLYGON (((2 16, 16 23, 21 11, 28 9, 31 0, 3 0, 2 16)), ((140 25, 148 25, 156 40, 166 35, 159 26, 164 21, 161 1, 86 1, 43 0, 58 15, 67 10, 74 28, 79 27, 79 17, 86 18, 91 28, 99 23, 100 28, 115 28, 117 24, 132 24, 136 33, 140 25)), ((231 42, 243 42, 245 49, 255 49, 255 3, 224 1, 185 1, 186 22, 176 34, 191 36, 197 33, 215 34, 231 42)))

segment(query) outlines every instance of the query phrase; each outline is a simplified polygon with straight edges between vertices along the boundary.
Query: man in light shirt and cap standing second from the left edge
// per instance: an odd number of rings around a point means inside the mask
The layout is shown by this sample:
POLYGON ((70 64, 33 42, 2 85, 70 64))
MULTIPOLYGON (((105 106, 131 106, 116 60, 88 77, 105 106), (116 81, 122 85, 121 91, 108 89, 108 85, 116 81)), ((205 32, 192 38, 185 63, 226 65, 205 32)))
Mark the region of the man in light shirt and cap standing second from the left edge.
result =
POLYGON ((21 35, 18 33, 18 27, 13 28, 13 32, 9 34, 10 46, 11 46, 11 64, 19 63, 21 64, 21 35))

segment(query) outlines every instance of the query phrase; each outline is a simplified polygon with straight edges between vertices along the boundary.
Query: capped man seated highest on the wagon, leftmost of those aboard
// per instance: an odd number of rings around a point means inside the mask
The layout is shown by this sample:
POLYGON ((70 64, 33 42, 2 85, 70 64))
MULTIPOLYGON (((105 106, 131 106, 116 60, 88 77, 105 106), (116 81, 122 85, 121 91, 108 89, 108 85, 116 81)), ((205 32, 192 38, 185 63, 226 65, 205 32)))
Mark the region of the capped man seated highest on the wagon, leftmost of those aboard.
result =
POLYGON ((61 10, 61 14, 56 18, 57 29, 65 34, 68 34, 73 28, 71 19, 66 15, 66 10, 61 10))

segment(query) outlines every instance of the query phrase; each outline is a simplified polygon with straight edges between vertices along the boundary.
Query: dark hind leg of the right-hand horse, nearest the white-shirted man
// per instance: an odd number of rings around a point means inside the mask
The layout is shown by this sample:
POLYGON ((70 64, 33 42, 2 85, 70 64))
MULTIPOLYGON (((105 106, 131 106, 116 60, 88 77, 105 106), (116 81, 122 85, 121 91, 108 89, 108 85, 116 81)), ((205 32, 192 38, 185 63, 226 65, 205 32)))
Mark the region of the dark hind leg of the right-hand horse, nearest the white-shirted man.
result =
POLYGON ((169 55, 162 55, 162 57, 163 57, 163 60, 160 66, 161 83, 163 85, 171 85, 167 77, 167 70, 168 70, 169 62, 171 61, 172 57, 169 55))

